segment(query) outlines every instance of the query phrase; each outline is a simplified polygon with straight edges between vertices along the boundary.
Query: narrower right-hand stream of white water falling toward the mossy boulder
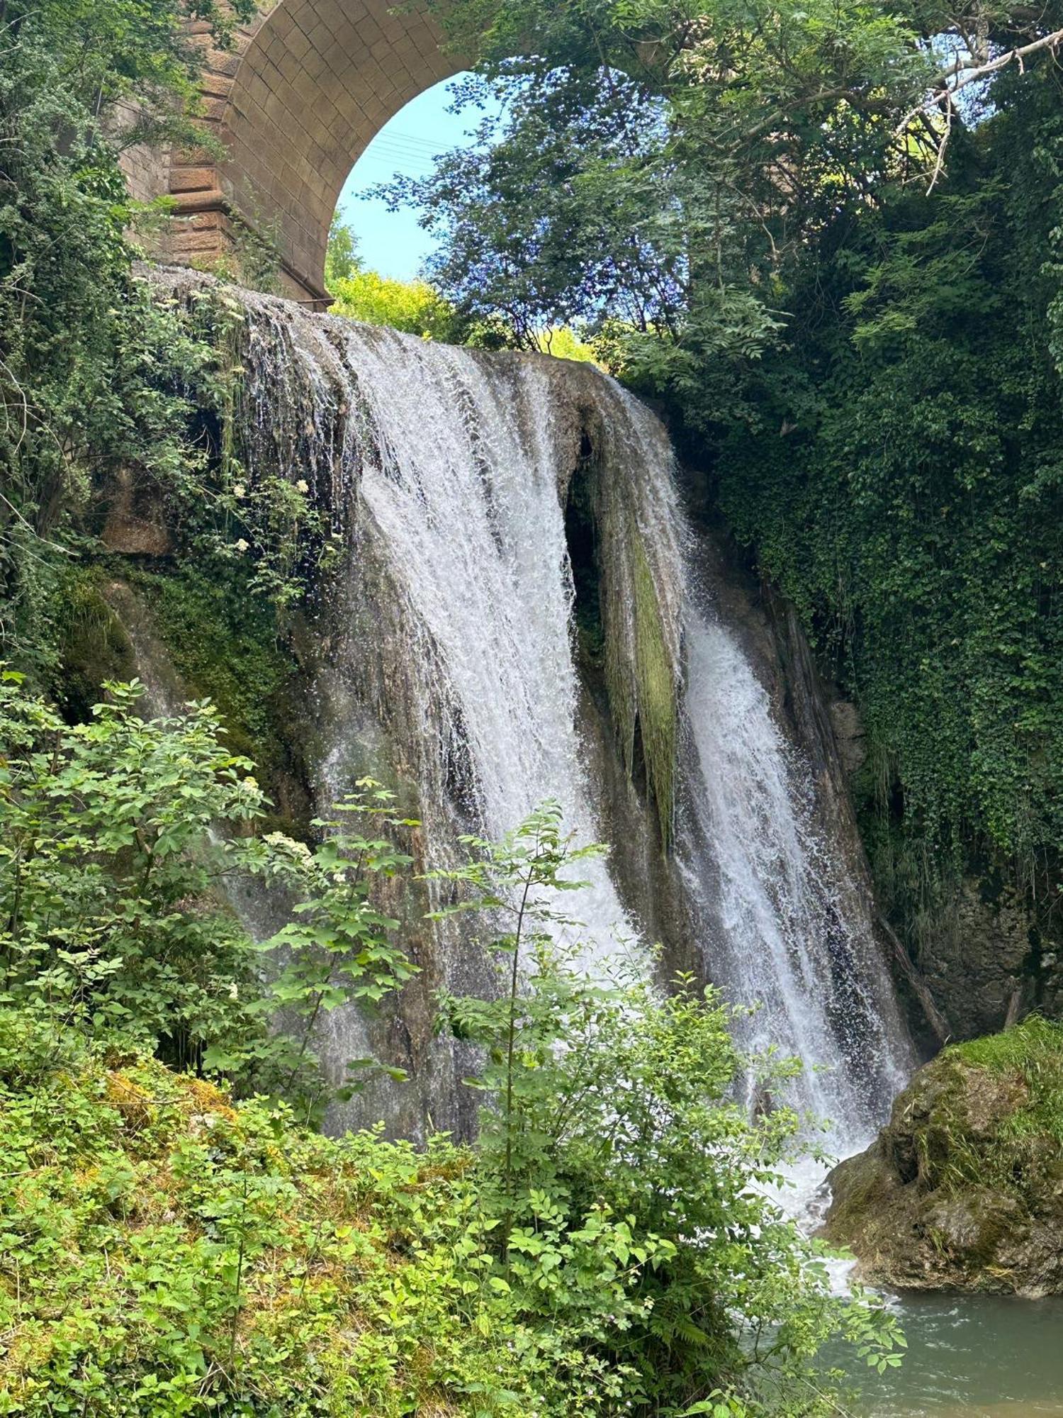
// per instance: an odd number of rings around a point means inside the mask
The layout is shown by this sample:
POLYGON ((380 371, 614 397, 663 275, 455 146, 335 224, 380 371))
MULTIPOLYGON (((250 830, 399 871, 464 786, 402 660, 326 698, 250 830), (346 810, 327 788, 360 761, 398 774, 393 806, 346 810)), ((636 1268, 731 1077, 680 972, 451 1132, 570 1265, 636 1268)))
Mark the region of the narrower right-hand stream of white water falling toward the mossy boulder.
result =
POLYGON ((903 1029, 811 786, 734 635, 703 608, 686 628, 690 737, 685 872, 716 974, 757 1012, 746 1045, 797 1056, 788 1100, 865 1146, 906 1079, 903 1029))

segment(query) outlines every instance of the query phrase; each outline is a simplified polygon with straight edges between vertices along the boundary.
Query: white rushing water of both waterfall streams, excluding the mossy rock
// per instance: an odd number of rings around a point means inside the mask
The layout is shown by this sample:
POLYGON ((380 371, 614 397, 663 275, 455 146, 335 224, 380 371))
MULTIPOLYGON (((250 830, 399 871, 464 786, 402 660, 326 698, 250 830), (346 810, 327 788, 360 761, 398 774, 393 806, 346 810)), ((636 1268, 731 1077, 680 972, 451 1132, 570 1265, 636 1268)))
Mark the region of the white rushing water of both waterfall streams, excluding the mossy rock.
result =
MULTIPOLYGON (((499 370, 398 336, 347 340, 380 448, 363 468, 361 496, 441 657, 488 834, 551 797, 571 828, 597 835, 575 725, 560 499, 570 469, 558 462, 553 381, 532 360, 499 370)), ((649 515, 642 503, 641 535, 658 560, 675 562, 685 537, 670 448, 646 410, 608 386, 602 397, 628 474, 656 493, 649 515)), ((692 847, 685 865, 707 966, 731 997, 760 1005, 741 1027, 744 1042, 801 1059, 794 1102, 832 1120, 833 1144, 846 1150, 867 1137, 904 1076, 884 1027, 896 1022, 884 971, 846 919, 809 787, 747 657, 693 597, 685 641, 692 821, 680 822, 680 839, 692 847)), ((601 963, 617 927, 632 932, 605 868, 590 875, 573 913, 601 963)))

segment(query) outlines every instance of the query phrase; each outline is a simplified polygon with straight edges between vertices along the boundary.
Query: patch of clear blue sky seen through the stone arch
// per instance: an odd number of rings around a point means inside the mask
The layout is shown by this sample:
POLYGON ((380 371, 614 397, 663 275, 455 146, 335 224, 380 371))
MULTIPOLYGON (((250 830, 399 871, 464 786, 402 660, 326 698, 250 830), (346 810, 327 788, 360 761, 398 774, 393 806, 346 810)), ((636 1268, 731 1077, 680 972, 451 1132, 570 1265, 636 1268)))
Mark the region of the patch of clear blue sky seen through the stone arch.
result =
POLYGON ((374 183, 395 173, 424 177, 432 169, 432 156, 469 142, 469 132, 483 119, 476 108, 448 113, 452 79, 437 84, 411 99, 386 123, 340 193, 339 211, 359 238, 359 252, 366 265, 381 275, 408 281, 432 250, 431 237, 417 225, 411 210, 390 213, 383 201, 361 197, 374 183))

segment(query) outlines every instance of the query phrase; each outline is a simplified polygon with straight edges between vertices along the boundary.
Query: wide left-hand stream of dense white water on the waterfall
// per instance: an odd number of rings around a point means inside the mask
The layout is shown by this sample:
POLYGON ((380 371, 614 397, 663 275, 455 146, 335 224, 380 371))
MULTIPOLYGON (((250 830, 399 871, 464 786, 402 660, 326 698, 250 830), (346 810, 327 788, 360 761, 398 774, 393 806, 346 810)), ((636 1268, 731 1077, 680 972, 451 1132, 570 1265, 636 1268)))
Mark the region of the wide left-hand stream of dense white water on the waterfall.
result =
MULTIPOLYGON (((554 386, 534 360, 344 333, 377 450, 360 495, 459 716, 466 807, 499 837, 556 800, 566 825, 594 839, 561 505, 571 468, 554 386)), ((607 866, 581 864, 581 876, 588 885, 566 905, 585 925, 581 963, 594 970, 635 932, 607 866)))

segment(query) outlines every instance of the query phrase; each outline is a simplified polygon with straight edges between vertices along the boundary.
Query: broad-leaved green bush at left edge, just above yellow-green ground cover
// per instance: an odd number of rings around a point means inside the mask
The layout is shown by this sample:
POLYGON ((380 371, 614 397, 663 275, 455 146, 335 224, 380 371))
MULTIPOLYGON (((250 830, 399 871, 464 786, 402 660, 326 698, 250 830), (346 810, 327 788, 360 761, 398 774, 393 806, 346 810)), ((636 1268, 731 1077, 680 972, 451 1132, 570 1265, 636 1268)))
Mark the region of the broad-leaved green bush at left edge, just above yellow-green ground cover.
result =
POLYGON ((210 705, 146 723, 112 685, 68 727, 4 672, 0 917, 4 994, 196 1066, 248 1035, 249 942, 217 895, 262 793, 218 746, 210 705))

